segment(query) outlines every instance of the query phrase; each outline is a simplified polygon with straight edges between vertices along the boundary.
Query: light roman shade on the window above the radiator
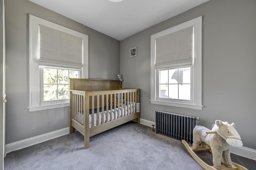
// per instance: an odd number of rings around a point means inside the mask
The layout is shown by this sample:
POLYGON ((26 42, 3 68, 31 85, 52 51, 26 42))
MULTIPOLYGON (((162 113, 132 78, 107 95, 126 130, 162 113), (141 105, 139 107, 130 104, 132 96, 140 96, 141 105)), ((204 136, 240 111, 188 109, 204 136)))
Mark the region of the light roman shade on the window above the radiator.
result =
POLYGON ((156 64, 170 65, 193 60, 193 26, 156 38, 156 64))

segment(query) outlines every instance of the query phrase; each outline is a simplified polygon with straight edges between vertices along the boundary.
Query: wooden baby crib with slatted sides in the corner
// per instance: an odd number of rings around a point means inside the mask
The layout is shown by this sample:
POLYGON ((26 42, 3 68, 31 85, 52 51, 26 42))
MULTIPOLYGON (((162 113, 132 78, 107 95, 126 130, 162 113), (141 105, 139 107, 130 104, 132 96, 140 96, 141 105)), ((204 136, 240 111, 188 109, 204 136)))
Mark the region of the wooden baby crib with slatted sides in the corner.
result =
POLYGON ((122 89, 121 81, 70 78, 70 133, 90 136, 137 119, 140 123, 140 90, 122 89))

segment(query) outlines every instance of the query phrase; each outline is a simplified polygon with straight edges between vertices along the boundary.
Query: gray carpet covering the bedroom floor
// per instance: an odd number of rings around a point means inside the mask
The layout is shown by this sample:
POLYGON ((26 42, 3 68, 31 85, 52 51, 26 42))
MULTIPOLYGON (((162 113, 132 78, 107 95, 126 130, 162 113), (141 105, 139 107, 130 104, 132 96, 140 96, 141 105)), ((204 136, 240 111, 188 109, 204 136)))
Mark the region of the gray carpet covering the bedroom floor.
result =
MULTIPOLYGON (((211 163, 208 151, 198 153, 211 163)), ((232 161, 249 170, 256 161, 232 154, 232 161)), ((156 134, 150 127, 129 122, 90 138, 84 150, 79 132, 10 152, 5 170, 203 170, 180 140, 156 134)))

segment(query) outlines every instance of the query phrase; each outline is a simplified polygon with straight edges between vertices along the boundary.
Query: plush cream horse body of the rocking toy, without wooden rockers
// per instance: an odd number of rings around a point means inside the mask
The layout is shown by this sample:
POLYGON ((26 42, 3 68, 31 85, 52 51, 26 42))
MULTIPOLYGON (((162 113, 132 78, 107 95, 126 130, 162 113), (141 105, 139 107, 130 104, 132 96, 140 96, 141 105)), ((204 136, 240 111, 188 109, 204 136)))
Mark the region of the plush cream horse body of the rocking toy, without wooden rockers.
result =
POLYGON ((240 135, 235 127, 236 125, 234 123, 228 124, 227 122, 219 120, 215 121, 212 130, 203 126, 196 126, 193 130, 192 148, 198 148, 200 142, 204 148, 209 145, 212 150, 212 162, 214 168, 220 169, 221 158, 223 158, 226 167, 232 168, 230 145, 234 147, 243 146, 240 135), (206 133, 209 131, 216 133, 206 133))

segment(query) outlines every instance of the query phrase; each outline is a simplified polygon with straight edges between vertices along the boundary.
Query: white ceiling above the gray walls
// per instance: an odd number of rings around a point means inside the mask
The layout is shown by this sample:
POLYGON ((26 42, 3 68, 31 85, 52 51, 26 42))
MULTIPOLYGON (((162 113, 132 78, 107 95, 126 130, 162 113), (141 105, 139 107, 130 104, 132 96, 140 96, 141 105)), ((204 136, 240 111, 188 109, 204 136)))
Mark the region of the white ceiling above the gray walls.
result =
POLYGON ((117 40, 208 0, 29 0, 117 40))

